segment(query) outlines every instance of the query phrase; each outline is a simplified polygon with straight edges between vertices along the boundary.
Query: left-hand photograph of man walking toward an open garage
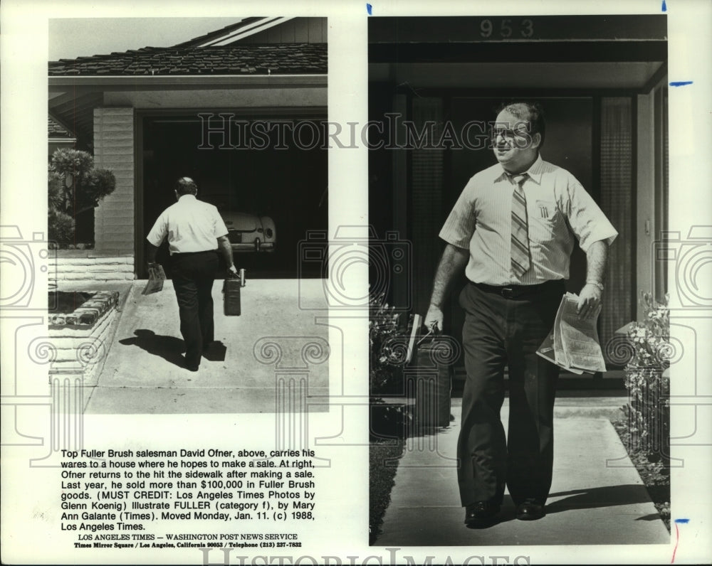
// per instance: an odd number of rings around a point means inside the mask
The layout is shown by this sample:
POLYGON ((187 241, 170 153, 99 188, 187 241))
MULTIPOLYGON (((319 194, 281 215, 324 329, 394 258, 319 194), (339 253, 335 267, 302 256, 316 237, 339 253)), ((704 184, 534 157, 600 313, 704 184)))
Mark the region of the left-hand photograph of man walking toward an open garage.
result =
POLYGON ((86 412, 328 395, 324 273, 299 255, 328 229, 327 37, 316 17, 49 21, 49 371, 79 372, 86 412))

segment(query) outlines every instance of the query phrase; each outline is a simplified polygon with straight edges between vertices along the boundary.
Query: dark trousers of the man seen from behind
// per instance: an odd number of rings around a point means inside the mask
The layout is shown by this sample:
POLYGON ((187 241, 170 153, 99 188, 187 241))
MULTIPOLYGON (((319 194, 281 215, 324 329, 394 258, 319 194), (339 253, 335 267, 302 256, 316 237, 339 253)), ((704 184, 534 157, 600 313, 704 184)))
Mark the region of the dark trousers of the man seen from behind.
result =
POLYGON ((189 367, 197 367, 204 346, 215 339, 211 292, 218 256, 211 251, 174 254, 171 259, 180 333, 186 347, 185 361, 189 367))

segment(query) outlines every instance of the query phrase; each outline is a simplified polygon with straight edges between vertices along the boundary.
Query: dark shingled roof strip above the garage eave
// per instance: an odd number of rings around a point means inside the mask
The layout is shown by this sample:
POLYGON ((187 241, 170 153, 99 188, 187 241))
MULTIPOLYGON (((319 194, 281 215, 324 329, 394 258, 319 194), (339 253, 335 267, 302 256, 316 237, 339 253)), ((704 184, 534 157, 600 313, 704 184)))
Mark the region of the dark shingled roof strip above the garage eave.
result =
POLYGON ((50 76, 97 75, 325 75, 326 43, 204 48, 147 47, 49 63, 50 76))

